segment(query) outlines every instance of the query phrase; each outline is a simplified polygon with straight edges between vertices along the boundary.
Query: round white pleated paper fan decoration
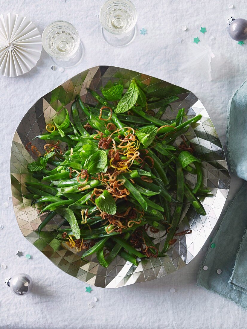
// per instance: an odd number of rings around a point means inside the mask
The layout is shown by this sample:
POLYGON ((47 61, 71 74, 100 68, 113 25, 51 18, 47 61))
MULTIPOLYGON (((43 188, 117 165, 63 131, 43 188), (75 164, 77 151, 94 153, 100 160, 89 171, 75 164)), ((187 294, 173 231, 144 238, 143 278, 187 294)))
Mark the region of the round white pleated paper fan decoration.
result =
POLYGON ((31 70, 40 57, 41 36, 27 17, 0 15, 0 74, 16 77, 31 70))

